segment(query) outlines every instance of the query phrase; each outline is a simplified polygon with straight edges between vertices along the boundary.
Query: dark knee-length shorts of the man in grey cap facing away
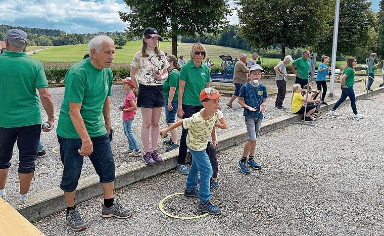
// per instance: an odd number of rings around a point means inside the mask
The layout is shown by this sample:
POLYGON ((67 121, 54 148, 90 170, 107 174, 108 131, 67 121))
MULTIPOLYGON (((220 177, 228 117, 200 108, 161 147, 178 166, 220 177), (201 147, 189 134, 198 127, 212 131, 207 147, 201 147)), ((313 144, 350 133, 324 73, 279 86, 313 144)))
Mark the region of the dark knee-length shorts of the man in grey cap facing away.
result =
POLYGON ((15 128, 0 127, 0 169, 11 166, 13 147, 17 140, 19 149, 18 172, 28 174, 35 171, 41 124, 15 128))

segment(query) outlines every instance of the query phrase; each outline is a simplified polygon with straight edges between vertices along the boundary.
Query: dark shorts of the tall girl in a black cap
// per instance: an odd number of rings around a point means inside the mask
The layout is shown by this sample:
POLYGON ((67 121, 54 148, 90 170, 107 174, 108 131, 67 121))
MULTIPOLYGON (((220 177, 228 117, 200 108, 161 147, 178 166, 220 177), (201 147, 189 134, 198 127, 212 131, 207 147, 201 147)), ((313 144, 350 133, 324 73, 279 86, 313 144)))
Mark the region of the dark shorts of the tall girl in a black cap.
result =
POLYGON ((137 94, 137 107, 154 108, 164 106, 163 85, 149 86, 140 83, 137 94))

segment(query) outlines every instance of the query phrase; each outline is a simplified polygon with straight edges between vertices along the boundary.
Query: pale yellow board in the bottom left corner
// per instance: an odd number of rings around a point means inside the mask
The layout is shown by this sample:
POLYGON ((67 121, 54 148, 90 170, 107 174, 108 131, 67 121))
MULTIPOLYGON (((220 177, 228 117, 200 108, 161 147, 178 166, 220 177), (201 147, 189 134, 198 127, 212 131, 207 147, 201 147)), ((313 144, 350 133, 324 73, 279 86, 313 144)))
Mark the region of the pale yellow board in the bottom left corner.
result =
POLYGON ((0 236, 44 235, 18 211, 0 198, 0 236))

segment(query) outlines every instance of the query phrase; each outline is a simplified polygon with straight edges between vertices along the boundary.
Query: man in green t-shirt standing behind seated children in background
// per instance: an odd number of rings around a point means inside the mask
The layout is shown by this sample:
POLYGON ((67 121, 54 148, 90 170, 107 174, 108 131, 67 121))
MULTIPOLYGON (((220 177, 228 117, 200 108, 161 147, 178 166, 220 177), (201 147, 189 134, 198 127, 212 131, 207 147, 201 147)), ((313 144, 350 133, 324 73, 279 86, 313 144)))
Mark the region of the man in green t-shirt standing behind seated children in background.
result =
POLYGON ((294 72, 294 74, 296 75, 295 83, 300 84, 301 88, 308 84, 309 66, 311 64, 311 59, 309 59, 309 55, 311 55, 309 51, 305 50, 303 52, 303 56, 293 61, 290 65, 292 72, 294 72))

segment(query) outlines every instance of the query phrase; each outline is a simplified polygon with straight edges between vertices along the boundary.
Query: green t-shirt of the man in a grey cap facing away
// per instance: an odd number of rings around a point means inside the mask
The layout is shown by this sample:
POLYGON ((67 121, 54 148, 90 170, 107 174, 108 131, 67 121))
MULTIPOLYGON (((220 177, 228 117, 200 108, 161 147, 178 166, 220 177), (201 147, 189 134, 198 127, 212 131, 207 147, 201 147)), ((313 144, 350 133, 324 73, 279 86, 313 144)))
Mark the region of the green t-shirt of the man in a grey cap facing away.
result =
POLYGON ((0 127, 41 124, 37 88, 48 82, 41 63, 22 52, 0 54, 0 127))

